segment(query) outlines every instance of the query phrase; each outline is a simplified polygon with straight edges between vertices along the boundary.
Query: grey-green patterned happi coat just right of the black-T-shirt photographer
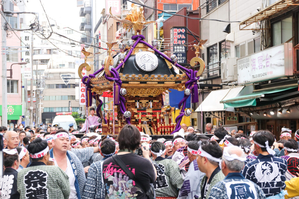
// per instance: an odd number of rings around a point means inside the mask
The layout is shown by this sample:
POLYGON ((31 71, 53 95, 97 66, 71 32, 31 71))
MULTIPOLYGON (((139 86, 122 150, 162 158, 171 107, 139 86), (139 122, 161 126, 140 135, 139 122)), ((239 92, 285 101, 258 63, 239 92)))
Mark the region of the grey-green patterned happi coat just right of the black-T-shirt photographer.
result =
POLYGON ((157 179, 154 188, 156 197, 177 197, 178 189, 183 185, 180 169, 173 160, 157 157, 153 161, 157 170, 157 179))

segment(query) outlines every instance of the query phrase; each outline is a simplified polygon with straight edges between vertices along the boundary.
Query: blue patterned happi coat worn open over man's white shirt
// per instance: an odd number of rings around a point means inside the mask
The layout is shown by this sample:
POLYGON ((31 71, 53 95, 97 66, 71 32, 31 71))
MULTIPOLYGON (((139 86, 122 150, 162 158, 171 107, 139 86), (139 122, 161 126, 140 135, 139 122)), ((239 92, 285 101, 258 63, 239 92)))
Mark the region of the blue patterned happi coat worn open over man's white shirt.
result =
MULTIPOLYGON (((53 158, 53 148, 49 151, 50 157, 53 158)), ((71 162, 72 169, 75 175, 75 188, 77 192, 77 197, 80 199, 80 195, 83 193, 84 185, 86 183, 86 177, 83 165, 79 158, 71 151, 66 152, 66 156, 71 162)))

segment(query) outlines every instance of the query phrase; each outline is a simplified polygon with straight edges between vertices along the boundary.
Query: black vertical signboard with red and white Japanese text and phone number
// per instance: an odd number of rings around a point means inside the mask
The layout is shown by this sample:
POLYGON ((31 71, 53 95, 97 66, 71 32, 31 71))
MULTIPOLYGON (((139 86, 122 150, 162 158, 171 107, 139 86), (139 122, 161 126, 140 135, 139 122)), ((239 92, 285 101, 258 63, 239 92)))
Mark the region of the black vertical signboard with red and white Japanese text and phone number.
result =
POLYGON ((170 29, 170 50, 178 57, 178 64, 187 64, 186 27, 173 27, 170 29))

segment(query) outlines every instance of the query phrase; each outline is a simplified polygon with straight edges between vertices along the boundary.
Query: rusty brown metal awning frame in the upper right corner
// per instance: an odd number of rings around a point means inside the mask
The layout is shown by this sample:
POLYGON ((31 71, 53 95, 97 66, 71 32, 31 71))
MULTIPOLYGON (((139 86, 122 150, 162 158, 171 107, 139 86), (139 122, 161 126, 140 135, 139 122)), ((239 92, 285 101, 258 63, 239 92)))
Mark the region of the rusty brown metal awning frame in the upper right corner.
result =
POLYGON ((299 0, 279 0, 254 15, 248 17, 247 19, 241 21, 239 24, 240 30, 253 30, 253 29, 261 29, 259 27, 251 27, 251 24, 254 24, 259 21, 269 20, 278 15, 281 15, 289 10, 292 10, 296 6, 299 5, 299 0))

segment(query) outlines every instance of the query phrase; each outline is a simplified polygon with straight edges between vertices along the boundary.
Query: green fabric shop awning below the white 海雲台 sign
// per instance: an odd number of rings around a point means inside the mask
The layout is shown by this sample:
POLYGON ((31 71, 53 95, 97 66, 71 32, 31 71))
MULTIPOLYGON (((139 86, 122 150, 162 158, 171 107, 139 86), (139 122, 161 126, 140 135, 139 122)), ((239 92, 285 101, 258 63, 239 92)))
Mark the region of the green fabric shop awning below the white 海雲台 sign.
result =
POLYGON ((241 95, 241 96, 238 96, 235 98, 224 99, 224 100, 220 101, 220 103, 224 104, 224 108, 256 106, 257 98, 265 98, 267 94, 271 94, 271 93, 279 94, 279 92, 293 89, 293 88, 296 88, 296 87, 289 87, 289 88, 283 88, 283 89, 249 93, 247 95, 241 95))

